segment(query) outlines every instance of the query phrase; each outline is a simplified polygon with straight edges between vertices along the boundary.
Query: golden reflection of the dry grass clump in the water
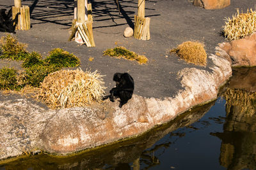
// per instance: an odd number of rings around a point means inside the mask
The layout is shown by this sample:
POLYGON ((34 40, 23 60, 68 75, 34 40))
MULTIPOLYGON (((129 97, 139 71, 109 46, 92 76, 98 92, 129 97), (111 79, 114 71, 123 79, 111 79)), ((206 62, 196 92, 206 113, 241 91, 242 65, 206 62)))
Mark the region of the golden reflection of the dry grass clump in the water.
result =
POLYGON ((256 92, 246 92, 239 89, 227 89, 224 94, 227 101, 226 110, 238 106, 239 112, 252 117, 256 112, 256 92))

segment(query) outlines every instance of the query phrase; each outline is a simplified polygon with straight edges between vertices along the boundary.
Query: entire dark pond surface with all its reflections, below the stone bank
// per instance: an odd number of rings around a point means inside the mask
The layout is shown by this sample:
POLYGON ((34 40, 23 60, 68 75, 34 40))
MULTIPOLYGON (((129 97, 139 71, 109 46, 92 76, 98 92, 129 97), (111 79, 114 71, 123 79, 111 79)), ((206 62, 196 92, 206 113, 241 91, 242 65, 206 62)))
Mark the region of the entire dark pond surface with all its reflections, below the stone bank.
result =
POLYGON ((41 154, 0 169, 256 169, 256 68, 234 69, 213 103, 136 139, 73 157, 41 154))

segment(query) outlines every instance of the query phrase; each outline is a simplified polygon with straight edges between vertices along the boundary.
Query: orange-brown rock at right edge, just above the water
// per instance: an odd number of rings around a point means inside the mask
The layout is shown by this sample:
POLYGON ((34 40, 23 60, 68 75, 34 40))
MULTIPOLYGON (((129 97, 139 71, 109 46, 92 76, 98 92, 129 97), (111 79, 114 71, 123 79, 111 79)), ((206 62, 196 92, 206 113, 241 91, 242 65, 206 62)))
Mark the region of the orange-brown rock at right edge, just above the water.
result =
POLYGON ((256 32, 243 39, 220 43, 218 55, 228 59, 233 67, 256 66, 256 32))

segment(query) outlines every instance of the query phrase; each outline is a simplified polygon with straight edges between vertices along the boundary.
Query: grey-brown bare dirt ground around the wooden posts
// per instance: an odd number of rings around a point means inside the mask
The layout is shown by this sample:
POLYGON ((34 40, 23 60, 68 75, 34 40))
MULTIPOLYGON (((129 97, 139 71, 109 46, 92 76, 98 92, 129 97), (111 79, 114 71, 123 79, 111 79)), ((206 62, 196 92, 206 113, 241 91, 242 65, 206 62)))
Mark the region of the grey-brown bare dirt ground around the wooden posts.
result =
MULTIPOLYGON (((193 6, 193 0, 149 0, 146 1, 145 15, 150 17, 149 41, 124 38, 124 29, 134 26, 134 15, 138 13, 138 1, 129 0, 120 3, 120 14, 114 0, 91 0, 93 8, 93 36, 96 47, 88 48, 75 41, 67 41, 68 31, 73 18, 74 1, 72 0, 24 0, 23 5, 30 6, 31 29, 17 31, 15 36, 22 43, 28 44, 29 52, 36 51, 43 56, 52 48, 63 48, 81 59, 84 71, 96 69, 106 76, 106 92, 114 87, 112 81, 116 72, 128 72, 135 81, 134 94, 144 97, 169 97, 182 89, 177 72, 184 67, 195 67, 179 60, 168 51, 184 41, 198 40, 205 44, 210 55, 215 46, 225 41, 221 36, 225 17, 232 17, 236 9, 246 11, 255 9, 255 1, 231 0, 230 6, 221 10, 205 10, 193 6), (125 59, 103 56, 107 48, 116 45, 125 46, 138 54, 146 55, 148 64, 140 65, 125 59), (89 57, 94 57, 89 61, 89 57)), ((0 0, 0 8, 10 9, 13 0, 0 0)), ((0 32, 0 37, 4 32, 0 32)), ((209 69, 211 60, 208 60, 209 69)), ((15 66, 17 63, 0 60, 0 67, 15 66)))

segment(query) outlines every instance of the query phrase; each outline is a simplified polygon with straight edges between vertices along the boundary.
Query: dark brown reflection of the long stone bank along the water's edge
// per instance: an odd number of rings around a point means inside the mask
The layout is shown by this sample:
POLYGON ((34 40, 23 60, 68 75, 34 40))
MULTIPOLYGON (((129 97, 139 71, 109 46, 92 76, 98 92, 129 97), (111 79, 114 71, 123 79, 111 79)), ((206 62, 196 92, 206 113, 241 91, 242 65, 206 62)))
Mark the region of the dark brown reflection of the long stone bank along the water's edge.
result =
MULTIPOLYGON (((153 146, 166 134, 198 121, 209 111, 213 104, 214 102, 194 108, 168 124, 156 127, 138 138, 121 141, 90 152, 77 153, 77 155, 70 157, 60 158, 41 154, 6 164, 2 163, 1 166, 5 169, 131 169, 131 167, 140 169, 140 164, 143 164, 146 166, 143 168, 148 169, 160 164, 159 159, 154 156, 154 152, 159 148, 168 148, 171 143, 162 143, 161 145, 155 145, 150 150, 146 149, 153 146), (130 162, 133 162, 133 164, 130 162)), ((182 134, 182 136, 184 135, 182 134)))

